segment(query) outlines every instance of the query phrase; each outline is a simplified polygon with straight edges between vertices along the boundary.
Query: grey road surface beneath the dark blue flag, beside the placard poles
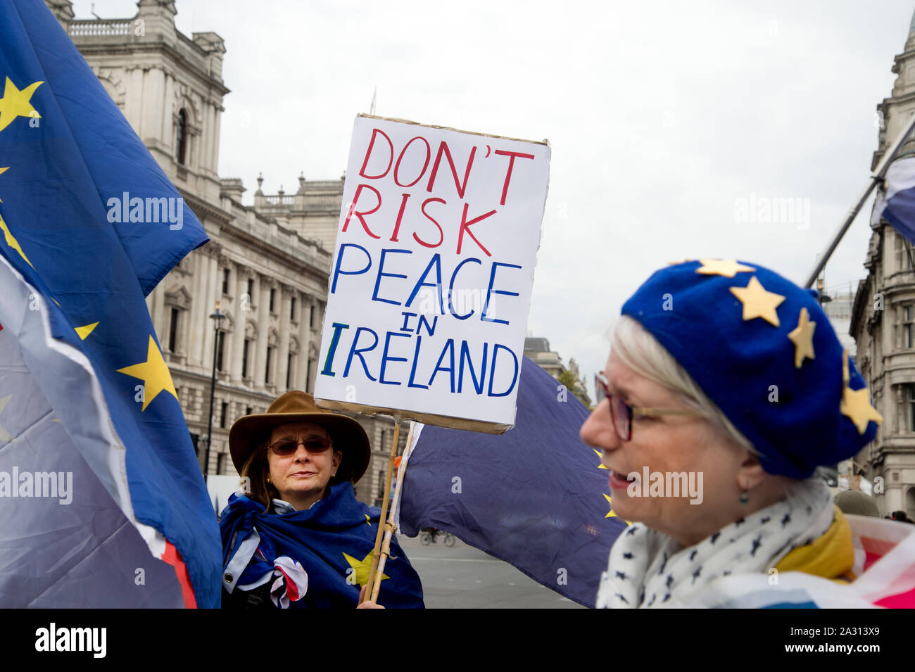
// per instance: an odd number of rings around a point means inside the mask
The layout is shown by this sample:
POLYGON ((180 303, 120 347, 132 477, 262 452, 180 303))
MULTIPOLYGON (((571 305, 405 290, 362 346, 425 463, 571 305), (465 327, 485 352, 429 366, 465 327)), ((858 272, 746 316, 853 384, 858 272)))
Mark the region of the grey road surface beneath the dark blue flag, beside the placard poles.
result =
POLYGON ((446 547, 439 536, 423 546, 419 537, 397 541, 423 581, 429 609, 581 609, 578 603, 540 585, 508 562, 491 558, 460 539, 446 547))

